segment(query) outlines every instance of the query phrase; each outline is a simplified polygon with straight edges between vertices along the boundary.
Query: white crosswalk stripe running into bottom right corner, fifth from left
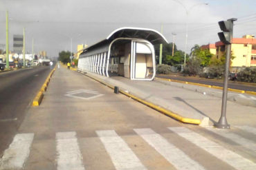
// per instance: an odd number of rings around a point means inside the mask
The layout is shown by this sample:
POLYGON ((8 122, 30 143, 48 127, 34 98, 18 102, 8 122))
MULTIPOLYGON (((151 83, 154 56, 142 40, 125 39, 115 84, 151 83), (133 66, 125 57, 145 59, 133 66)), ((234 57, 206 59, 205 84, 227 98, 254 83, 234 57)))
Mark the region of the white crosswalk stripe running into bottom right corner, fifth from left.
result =
POLYGON ((174 131, 179 136, 185 138, 186 140, 194 143, 194 145, 196 145, 197 147, 208 151, 208 153, 219 158, 219 160, 230 164, 230 166, 234 167, 235 169, 256 169, 256 164, 253 161, 239 156, 237 153, 222 147, 216 142, 208 140, 208 138, 205 138, 200 134, 196 134, 190 129, 187 129, 185 127, 169 127, 169 129, 171 131, 174 131))

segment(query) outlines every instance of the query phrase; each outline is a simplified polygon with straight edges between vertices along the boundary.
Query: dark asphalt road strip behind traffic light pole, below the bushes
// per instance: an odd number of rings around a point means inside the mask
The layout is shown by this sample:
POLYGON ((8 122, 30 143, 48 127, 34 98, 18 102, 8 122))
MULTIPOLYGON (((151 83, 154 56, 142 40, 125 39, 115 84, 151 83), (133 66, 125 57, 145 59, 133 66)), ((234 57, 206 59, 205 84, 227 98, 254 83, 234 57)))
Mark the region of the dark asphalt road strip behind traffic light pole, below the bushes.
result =
MULTIPOLYGON (((191 78, 191 77, 185 77, 185 76, 176 76, 176 75, 157 75, 156 77, 159 78, 170 78, 177 81, 188 81, 192 83, 201 83, 205 85, 215 85, 219 87, 223 87, 223 82, 220 80, 214 80, 214 79, 206 79, 206 78, 191 78)), ((245 91, 251 91, 256 92, 256 84, 244 84, 239 83, 237 81, 228 81, 228 88, 231 89, 241 89, 245 91)))

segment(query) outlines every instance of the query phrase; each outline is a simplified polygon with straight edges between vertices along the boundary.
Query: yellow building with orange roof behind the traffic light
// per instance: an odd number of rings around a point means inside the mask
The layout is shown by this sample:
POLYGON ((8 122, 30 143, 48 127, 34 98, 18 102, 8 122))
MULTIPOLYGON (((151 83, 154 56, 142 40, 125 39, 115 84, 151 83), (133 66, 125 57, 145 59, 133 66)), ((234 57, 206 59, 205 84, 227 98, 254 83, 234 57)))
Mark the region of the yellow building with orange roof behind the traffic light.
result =
MULTIPOLYGON (((210 49, 212 54, 216 54, 217 59, 220 59, 226 53, 226 45, 221 41, 214 45, 202 45, 203 49, 210 49)), ((245 35, 242 38, 233 38, 231 44, 232 55, 235 59, 232 60, 231 67, 256 67, 256 39, 253 35, 245 35)), ((233 69, 234 70, 234 69, 233 69)))

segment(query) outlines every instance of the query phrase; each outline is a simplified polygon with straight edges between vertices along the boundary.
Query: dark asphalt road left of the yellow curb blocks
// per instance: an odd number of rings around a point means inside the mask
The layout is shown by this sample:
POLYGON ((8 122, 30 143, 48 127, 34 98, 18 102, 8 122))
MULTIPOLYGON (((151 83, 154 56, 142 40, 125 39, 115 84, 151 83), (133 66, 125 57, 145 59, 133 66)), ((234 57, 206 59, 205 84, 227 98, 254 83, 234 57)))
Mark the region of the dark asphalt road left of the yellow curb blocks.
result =
POLYGON ((19 129, 49 72, 49 66, 41 66, 0 73, 0 155, 19 129))

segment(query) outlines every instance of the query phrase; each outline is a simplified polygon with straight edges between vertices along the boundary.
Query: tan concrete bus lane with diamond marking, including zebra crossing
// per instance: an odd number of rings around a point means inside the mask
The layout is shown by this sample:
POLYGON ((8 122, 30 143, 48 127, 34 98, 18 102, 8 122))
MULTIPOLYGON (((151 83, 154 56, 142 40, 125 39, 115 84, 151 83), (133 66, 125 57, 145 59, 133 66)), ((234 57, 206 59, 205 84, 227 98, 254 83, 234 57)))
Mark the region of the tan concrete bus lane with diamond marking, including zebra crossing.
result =
POLYGON ((223 137, 209 128, 179 123, 61 67, 42 104, 28 110, 0 169, 256 168, 255 130, 232 127, 223 137))

